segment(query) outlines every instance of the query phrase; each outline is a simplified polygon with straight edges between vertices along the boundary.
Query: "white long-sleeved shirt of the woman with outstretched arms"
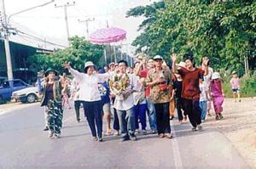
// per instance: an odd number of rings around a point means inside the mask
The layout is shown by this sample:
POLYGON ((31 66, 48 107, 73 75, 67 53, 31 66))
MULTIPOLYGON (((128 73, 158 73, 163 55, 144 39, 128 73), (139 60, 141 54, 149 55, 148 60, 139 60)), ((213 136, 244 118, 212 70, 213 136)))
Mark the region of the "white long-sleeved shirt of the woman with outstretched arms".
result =
POLYGON ((113 73, 87 75, 78 70, 70 69, 71 74, 79 82, 79 100, 93 102, 101 100, 101 94, 98 89, 98 82, 106 82, 113 73))

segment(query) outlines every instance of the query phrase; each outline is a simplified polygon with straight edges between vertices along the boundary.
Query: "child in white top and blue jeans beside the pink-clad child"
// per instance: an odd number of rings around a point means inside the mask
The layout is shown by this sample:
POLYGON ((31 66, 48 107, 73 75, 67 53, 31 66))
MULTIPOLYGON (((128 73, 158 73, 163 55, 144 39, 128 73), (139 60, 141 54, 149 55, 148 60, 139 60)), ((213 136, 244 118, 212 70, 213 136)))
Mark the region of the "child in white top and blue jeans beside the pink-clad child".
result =
POLYGON ((204 122, 206 120, 206 115, 207 115, 207 85, 205 82, 200 80, 199 84, 200 88, 200 100, 199 100, 199 105, 201 109, 201 121, 204 122))

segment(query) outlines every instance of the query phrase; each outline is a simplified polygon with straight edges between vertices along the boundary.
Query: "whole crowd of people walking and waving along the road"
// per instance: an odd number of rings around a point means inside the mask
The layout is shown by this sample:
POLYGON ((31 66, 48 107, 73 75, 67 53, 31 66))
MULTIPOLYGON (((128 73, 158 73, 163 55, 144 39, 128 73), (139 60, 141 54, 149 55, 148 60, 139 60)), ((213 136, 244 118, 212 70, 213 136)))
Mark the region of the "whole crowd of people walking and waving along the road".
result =
MULTIPOLYGON (((112 134, 120 135, 122 141, 136 141, 138 133, 172 138, 170 120, 176 112, 180 124, 189 119, 191 131, 202 130, 201 122, 206 121, 207 114, 211 115, 211 105, 216 120, 223 119, 222 79, 209 67, 209 59, 203 57, 199 67, 195 66, 193 54, 185 54, 178 64, 176 60, 177 54, 172 54, 172 65, 168 66, 160 55, 149 58, 139 54, 133 68, 125 60, 100 69, 87 61, 83 72, 65 63, 63 68, 70 72, 72 80, 66 73, 58 79, 57 71, 47 70, 39 87, 43 94, 44 130, 49 131, 49 138, 61 137, 63 109, 66 104, 71 109, 71 100, 76 120, 81 120, 82 107, 92 138, 99 142, 112 134), (106 133, 102 129, 103 119, 106 133)), ((240 79, 236 71, 232 75, 234 99, 237 95, 241 101, 240 79)))

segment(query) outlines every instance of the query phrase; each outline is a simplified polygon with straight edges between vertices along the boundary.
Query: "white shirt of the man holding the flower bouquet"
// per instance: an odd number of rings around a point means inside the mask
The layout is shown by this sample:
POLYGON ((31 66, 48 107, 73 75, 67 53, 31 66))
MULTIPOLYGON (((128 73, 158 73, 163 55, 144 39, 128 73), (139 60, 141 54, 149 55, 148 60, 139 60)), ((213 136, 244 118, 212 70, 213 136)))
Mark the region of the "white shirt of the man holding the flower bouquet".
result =
MULTIPOLYGON (((137 77, 133 74, 127 74, 129 76, 129 86, 127 87, 127 90, 136 90, 137 91, 137 77)), ((130 110, 133 107, 134 99, 133 94, 128 96, 127 99, 121 99, 122 96, 116 96, 114 99, 113 107, 116 110, 130 110)))

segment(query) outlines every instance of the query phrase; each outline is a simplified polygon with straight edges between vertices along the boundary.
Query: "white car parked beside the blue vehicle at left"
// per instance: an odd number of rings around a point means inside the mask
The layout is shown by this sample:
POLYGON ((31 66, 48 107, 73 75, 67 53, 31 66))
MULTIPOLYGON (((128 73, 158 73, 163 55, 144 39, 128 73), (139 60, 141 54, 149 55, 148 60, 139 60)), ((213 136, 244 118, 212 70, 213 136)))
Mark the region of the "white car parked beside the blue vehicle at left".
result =
POLYGON ((38 87, 26 87, 13 93, 12 99, 21 103, 34 103, 41 99, 38 87))

